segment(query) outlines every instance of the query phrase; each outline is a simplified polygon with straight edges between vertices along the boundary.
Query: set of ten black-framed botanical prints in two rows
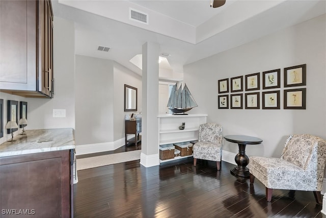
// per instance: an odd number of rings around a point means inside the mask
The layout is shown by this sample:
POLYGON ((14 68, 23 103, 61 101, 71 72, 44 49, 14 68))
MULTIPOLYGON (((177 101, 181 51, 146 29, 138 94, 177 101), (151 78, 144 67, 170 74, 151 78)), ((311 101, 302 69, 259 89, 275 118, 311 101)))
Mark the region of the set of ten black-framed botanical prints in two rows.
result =
POLYGON ((276 68, 218 80, 218 109, 280 110, 282 103, 283 109, 306 109, 307 64, 284 67, 281 74, 276 68))

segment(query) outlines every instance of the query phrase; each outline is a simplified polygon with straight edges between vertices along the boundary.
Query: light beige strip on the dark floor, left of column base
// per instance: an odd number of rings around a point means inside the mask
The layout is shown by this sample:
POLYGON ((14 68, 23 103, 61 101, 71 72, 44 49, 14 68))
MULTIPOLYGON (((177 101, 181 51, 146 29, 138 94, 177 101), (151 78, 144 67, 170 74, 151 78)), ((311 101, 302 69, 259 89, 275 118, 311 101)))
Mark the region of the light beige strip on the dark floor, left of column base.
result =
POLYGON ((101 155, 96 157, 87 157, 76 160, 77 171, 89 169, 98 166, 105 166, 115 163, 122 163, 131 160, 140 160, 141 150, 122 152, 117 154, 101 155))

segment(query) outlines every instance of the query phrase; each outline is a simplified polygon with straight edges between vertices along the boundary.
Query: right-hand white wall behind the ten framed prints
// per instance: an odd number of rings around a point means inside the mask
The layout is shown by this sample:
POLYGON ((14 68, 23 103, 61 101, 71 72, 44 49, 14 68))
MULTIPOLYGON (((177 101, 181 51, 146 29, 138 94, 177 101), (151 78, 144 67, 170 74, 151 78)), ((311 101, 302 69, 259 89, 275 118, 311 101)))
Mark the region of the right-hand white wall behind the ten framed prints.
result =
MULTIPOLYGON (((325 20, 325 15, 319 16, 184 66, 184 81, 199 105, 190 112, 207 113, 207 122, 222 124, 224 135, 263 139, 261 145, 247 146, 248 156, 279 157, 289 134, 326 139, 325 20), (307 109, 284 110, 283 68, 300 64, 307 64, 307 109), (218 109, 218 80, 277 68, 281 68, 280 110, 218 109)), ((223 150, 237 153, 238 147, 224 141, 223 150)))

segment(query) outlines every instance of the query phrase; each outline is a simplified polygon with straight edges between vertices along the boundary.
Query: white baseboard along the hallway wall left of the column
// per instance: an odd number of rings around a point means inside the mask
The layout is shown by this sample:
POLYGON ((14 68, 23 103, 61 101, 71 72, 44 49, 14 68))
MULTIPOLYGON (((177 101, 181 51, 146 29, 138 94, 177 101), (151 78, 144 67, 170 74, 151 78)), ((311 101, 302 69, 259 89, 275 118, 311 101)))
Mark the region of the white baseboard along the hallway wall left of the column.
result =
POLYGON ((83 155, 83 154, 92 154, 97 152, 107 152, 107 151, 114 151, 121 146, 124 146, 125 139, 121 138, 119 140, 113 142, 103 142, 103 143, 96 143, 96 144, 82 144, 76 146, 76 155, 83 155))

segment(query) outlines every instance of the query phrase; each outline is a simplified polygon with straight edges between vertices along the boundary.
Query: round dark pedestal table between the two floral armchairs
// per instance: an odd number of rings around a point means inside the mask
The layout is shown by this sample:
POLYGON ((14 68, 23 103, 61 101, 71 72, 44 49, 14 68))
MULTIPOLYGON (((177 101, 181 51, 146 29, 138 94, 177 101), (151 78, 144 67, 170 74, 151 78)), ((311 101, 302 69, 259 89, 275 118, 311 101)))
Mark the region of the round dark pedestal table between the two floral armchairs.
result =
POLYGON ((246 146, 247 144, 260 144, 263 140, 247 135, 226 135, 224 138, 227 141, 237 143, 239 147, 239 153, 235 155, 234 158, 237 166, 231 169, 231 174, 233 176, 249 177, 250 173, 249 169, 247 168, 249 157, 246 155, 246 146))

